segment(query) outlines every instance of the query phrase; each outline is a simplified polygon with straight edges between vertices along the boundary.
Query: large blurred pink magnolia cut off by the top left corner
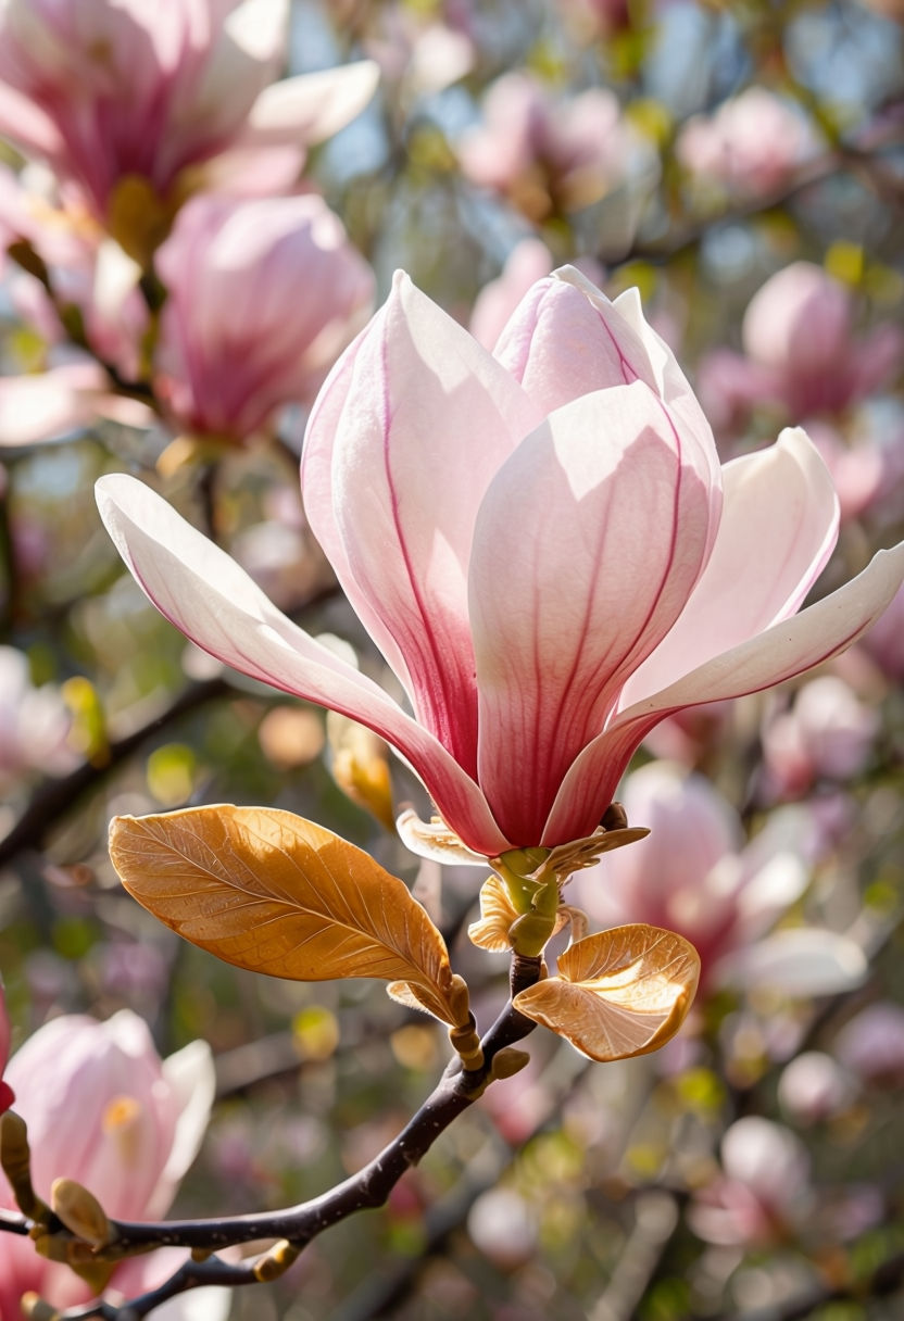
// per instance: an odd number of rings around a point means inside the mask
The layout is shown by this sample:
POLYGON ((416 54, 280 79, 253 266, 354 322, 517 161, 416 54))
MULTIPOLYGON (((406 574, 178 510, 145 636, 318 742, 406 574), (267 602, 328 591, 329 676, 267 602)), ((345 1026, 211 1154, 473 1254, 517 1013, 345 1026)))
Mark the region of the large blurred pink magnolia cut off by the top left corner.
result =
POLYGON ((7 0, 0 132, 102 223, 128 177, 172 201, 190 168, 319 141, 370 99, 370 62, 274 83, 287 18, 287 0, 7 0))

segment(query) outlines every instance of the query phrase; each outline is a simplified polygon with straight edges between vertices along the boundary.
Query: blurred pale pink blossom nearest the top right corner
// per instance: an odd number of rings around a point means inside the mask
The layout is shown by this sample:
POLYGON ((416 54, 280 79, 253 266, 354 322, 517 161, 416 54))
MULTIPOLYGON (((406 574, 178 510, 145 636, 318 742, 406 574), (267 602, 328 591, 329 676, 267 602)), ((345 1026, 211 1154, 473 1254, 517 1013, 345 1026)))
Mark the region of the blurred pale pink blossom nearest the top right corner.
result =
POLYGON ((675 143, 691 174, 744 194, 781 188, 818 148, 804 115, 765 87, 748 87, 712 115, 694 115, 675 143))

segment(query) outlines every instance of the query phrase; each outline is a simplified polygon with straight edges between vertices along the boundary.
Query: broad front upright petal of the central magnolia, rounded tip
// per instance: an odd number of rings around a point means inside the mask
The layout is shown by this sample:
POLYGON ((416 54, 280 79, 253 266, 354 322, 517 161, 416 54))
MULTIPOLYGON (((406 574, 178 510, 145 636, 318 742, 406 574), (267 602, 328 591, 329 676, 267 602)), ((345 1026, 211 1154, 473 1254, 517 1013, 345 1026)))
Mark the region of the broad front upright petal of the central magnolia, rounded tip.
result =
POLYGON ((538 841, 562 777, 704 561, 710 490, 663 413, 641 382, 576 399, 522 441, 480 510, 480 782, 519 844, 538 841))

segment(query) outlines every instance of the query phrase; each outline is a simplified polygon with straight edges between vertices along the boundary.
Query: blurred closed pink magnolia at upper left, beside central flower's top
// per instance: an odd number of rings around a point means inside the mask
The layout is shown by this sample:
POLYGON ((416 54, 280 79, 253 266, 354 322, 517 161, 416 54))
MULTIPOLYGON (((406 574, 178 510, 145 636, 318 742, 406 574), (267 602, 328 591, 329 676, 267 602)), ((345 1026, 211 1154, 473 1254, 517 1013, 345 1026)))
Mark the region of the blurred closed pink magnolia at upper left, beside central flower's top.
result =
POLYGON ((316 193, 197 197, 157 252, 155 384, 170 421, 243 441, 309 402, 373 310, 374 276, 316 193))

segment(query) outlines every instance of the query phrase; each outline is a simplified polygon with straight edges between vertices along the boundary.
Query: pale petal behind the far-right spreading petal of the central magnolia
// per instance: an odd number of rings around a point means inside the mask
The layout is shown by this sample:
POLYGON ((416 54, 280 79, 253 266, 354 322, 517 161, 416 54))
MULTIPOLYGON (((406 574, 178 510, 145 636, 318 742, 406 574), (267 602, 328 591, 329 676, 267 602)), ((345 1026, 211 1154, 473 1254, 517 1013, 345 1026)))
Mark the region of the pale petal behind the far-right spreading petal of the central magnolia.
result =
POLYGON ((726 464, 723 481, 710 563, 675 626, 625 684, 622 709, 794 614, 831 555, 838 498, 800 427, 726 464))

